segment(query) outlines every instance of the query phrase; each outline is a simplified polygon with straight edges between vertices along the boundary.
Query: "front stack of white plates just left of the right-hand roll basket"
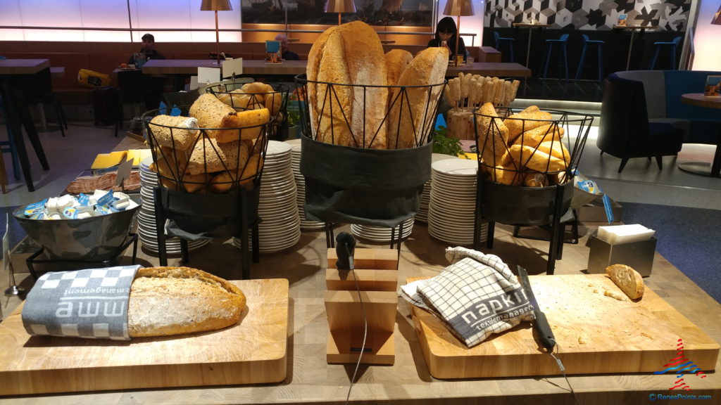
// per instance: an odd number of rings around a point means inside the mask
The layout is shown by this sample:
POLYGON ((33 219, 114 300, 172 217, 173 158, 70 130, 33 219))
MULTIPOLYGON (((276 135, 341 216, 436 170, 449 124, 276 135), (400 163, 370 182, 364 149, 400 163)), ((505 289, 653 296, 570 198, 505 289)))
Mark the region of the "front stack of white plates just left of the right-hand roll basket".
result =
MULTIPOLYGON (((449 244, 473 244, 476 215, 478 161, 445 159, 431 164, 433 188, 428 207, 428 233, 449 244)), ((482 222, 480 240, 485 241, 488 223, 482 222)))

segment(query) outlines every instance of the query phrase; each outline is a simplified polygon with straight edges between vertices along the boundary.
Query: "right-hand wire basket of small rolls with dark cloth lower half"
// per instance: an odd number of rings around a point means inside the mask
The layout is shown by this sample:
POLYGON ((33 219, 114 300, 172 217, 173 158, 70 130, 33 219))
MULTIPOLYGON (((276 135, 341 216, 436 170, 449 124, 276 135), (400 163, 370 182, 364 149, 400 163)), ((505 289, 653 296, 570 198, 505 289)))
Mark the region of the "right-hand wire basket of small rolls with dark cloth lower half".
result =
POLYGON ((544 225, 554 213, 565 213, 593 117, 535 105, 515 112, 485 102, 474 120, 482 215, 500 223, 544 225))

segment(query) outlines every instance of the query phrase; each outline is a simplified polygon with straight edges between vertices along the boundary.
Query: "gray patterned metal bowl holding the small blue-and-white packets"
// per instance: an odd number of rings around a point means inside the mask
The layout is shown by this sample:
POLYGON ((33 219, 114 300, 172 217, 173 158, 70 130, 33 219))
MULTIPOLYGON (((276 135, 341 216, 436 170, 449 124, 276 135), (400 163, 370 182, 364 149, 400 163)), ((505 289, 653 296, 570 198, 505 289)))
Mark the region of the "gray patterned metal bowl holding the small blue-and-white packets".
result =
POLYGON ((49 259, 102 262, 120 254, 138 208, 82 219, 36 220, 25 218, 23 206, 12 215, 49 259))

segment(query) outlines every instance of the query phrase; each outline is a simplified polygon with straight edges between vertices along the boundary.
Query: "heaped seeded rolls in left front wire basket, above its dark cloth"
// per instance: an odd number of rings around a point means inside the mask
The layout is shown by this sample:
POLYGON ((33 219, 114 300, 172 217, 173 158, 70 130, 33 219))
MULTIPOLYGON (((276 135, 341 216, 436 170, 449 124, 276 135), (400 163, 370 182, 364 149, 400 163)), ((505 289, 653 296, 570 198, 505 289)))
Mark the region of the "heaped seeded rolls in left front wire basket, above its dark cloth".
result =
POLYGON ((260 181, 270 110, 231 107, 213 93, 201 94, 180 115, 151 110, 143 115, 159 185, 193 193, 252 189, 260 181))

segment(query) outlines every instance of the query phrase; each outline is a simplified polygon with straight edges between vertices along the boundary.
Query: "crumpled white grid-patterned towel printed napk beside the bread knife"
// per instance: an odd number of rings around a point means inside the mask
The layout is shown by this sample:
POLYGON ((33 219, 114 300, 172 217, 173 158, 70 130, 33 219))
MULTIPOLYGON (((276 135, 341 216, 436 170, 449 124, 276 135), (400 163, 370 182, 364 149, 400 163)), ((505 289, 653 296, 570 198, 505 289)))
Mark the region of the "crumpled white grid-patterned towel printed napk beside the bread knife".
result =
POLYGON ((402 296, 433 313, 468 347, 534 319, 521 283, 499 257, 464 247, 446 249, 441 274, 402 286, 402 296))

